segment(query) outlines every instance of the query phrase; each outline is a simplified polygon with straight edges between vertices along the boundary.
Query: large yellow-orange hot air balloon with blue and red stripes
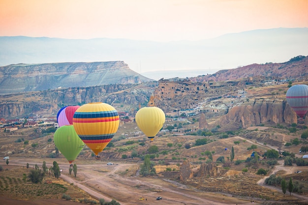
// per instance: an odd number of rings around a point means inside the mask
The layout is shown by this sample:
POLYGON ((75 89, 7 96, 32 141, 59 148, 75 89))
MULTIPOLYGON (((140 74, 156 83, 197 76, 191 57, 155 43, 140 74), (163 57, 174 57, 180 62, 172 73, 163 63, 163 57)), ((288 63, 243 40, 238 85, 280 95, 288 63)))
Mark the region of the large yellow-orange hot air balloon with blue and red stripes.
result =
POLYGON ((116 109, 102 102, 82 105, 73 117, 78 136, 97 156, 112 140, 119 123, 116 109))

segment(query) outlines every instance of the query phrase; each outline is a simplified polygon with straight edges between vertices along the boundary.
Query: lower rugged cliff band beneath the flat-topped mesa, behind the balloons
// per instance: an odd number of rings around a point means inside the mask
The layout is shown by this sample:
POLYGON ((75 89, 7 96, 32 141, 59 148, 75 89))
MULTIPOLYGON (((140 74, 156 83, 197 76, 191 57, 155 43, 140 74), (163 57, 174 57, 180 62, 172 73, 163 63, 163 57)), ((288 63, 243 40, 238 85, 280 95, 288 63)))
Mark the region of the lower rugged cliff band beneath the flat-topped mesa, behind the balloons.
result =
POLYGON ((138 109, 146 104, 154 92, 156 83, 106 85, 87 88, 64 88, 4 95, 0 98, 0 116, 6 118, 32 115, 57 115, 66 105, 82 105, 88 102, 104 102, 118 111, 138 109))

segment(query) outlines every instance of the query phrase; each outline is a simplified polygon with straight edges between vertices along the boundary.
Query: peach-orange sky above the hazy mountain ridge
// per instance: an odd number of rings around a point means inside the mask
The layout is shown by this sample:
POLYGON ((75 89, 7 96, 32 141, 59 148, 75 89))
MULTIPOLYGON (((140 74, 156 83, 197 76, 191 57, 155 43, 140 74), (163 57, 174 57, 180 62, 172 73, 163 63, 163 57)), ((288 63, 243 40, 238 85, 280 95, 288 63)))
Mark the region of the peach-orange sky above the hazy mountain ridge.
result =
POLYGON ((308 0, 0 0, 0 36, 201 40, 308 27, 308 0))

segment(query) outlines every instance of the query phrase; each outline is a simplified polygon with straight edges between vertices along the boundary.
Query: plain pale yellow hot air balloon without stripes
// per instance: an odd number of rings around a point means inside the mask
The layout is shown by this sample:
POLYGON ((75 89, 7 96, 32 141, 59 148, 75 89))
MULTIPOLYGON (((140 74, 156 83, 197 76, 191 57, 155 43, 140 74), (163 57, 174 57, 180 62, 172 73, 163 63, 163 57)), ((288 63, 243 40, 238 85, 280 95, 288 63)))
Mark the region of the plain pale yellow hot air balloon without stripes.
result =
POLYGON ((152 141, 165 123, 165 113, 157 107, 145 107, 136 113, 136 122, 141 131, 152 141))

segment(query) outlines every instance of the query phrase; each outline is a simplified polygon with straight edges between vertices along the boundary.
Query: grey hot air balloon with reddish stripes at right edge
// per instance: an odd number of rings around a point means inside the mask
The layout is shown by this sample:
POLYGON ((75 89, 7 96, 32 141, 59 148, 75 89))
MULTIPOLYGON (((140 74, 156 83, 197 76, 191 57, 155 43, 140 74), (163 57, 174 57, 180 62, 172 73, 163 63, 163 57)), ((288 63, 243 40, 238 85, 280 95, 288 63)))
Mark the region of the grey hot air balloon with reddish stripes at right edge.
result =
POLYGON ((300 120, 302 120, 308 111, 308 86, 292 86, 287 90, 286 98, 290 107, 300 117, 300 120))

